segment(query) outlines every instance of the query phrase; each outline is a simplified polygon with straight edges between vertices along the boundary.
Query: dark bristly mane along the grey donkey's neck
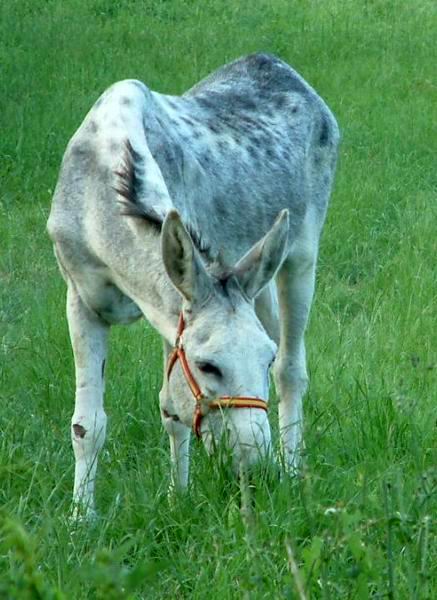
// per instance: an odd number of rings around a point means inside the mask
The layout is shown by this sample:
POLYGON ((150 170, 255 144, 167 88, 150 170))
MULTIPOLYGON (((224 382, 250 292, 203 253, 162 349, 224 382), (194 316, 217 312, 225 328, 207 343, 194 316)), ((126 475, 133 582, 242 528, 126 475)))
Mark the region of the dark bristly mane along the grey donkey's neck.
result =
MULTIPOLYGON (((121 205, 120 214, 142 221, 152 225, 157 232, 162 229, 163 218, 158 214, 153 206, 148 206, 143 198, 144 194, 144 167, 142 165, 141 154, 139 154, 127 140, 125 144, 125 153, 120 170, 115 171, 117 176, 117 185, 114 190, 121 196, 119 204, 121 205)), ((213 256, 211 247, 205 242, 200 233, 189 223, 184 226, 193 240, 197 250, 209 264, 217 264, 218 257, 213 256)))

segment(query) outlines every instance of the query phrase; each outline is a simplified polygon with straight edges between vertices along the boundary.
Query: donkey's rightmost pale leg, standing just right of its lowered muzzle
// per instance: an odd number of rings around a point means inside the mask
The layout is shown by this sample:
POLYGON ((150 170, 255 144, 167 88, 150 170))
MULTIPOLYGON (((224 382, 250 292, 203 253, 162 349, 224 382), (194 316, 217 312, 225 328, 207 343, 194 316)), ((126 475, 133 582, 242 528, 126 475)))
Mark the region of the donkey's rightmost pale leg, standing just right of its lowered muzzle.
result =
POLYGON ((315 260, 288 258, 277 276, 280 344, 274 376, 285 468, 294 472, 302 449, 302 398, 308 386, 304 333, 314 294, 315 260))

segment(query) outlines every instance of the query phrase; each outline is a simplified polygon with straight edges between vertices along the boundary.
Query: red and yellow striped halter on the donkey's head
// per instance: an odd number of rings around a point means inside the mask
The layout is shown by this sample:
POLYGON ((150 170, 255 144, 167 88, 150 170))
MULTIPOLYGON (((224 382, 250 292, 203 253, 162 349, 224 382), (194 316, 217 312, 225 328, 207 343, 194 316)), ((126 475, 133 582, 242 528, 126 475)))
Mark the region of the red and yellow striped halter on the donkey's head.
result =
MULTIPOLYGON (((185 355, 185 350, 181 344, 181 336, 185 328, 184 317, 182 313, 179 316, 178 330, 176 335, 176 342, 173 348, 172 353, 168 358, 167 363, 167 380, 170 379, 171 372, 173 370, 176 361, 179 359, 181 362, 182 371, 184 373, 185 379, 187 380, 188 387, 191 390, 191 393, 196 400, 196 406, 193 414, 193 432, 196 437, 201 438, 202 433, 200 430, 200 426, 202 423, 202 400, 204 399, 204 394, 199 387, 199 384, 194 378, 193 373, 191 372, 190 366, 187 361, 187 357, 185 355)), ((253 396, 220 396, 217 400, 212 400, 208 403, 208 408, 210 410, 217 410, 219 408, 262 408, 267 412, 268 406, 267 402, 261 400, 260 398, 255 398, 253 396)))

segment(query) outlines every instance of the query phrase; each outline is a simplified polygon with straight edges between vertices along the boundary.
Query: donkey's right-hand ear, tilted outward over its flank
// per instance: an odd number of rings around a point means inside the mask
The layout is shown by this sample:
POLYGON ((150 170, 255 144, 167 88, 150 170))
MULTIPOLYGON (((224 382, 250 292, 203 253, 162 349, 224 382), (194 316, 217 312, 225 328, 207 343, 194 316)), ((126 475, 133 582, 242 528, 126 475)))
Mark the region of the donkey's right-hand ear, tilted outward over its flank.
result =
POLYGON ((283 210, 270 231, 234 267, 246 296, 255 298, 276 275, 285 258, 287 241, 288 210, 283 210))

